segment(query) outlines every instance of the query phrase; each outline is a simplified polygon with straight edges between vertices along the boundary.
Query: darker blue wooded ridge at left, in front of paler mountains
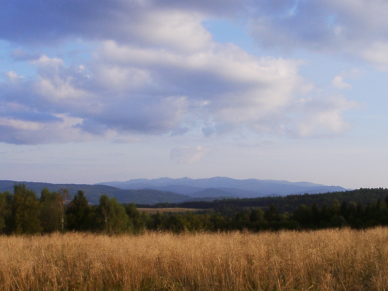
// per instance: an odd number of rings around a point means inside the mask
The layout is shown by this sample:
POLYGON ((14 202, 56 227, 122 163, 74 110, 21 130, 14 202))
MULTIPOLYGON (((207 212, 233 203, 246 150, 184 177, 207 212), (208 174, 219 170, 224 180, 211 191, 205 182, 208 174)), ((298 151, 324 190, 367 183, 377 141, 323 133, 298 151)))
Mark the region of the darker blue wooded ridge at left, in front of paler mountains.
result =
POLYGON ((115 197, 120 203, 133 202, 136 204, 156 204, 163 202, 179 203, 192 200, 192 197, 184 194, 176 194, 154 189, 125 190, 106 185, 50 184, 10 180, 0 180, 0 192, 9 191, 13 193, 15 183, 24 183, 27 188, 35 191, 38 197, 42 189, 45 187, 47 187, 51 192, 58 191, 61 188, 66 188, 72 196, 74 196, 78 190, 82 190, 90 204, 98 204, 98 200, 102 194, 115 197))

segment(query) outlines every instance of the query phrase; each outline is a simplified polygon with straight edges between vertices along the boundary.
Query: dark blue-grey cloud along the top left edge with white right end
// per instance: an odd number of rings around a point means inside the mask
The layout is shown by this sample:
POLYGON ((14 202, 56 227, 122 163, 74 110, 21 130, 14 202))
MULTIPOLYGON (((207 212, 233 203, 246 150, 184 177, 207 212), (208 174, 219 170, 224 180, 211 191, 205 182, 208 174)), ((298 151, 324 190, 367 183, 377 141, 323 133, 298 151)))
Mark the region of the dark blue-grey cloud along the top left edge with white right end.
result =
POLYGON ((115 39, 167 46, 200 45, 210 33, 197 26, 201 15, 234 15, 244 1, 84 1, 20 0, 4 4, 0 11, 0 37, 36 47, 63 42, 69 38, 115 39), (180 39, 180 41, 179 41, 180 39))

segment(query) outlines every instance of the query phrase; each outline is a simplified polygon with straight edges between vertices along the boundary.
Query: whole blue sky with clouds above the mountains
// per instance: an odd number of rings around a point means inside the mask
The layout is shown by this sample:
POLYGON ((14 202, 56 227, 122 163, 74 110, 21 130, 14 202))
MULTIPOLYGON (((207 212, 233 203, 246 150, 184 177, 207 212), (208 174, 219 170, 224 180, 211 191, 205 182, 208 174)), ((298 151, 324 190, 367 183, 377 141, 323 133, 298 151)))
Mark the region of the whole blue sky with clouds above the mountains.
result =
POLYGON ((388 187, 385 0, 0 4, 0 179, 388 187))

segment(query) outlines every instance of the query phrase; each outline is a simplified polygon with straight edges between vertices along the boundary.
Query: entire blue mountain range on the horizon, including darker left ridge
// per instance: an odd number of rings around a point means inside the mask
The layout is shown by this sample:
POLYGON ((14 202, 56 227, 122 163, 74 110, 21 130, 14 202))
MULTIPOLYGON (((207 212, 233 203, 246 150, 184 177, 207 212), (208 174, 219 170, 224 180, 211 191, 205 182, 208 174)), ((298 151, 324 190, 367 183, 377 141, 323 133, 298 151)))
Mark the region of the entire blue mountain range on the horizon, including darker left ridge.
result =
POLYGON ((0 180, 0 192, 13 192, 15 183, 24 183, 37 194, 47 187, 51 192, 67 188, 71 195, 82 190, 91 204, 97 204, 101 194, 115 197, 120 203, 155 204, 161 202, 179 203, 191 200, 222 198, 253 198, 261 196, 285 196, 290 194, 317 194, 345 191, 340 186, 327 186, 310 182, 289 182, 284 180, 232 179, 214 177, 131 179, 128 181, 101 182, 89 184, 51 184, 0 180))

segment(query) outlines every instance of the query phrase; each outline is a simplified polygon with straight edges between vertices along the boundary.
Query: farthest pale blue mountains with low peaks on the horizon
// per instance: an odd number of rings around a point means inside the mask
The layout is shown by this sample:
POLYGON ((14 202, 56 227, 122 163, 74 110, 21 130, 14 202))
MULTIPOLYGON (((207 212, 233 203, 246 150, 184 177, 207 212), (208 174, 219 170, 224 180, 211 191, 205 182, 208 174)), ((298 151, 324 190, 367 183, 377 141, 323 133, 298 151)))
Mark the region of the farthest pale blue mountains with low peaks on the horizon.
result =
POLYGON ((121 189, 155 189, 197 197, 240 197, 253 198, 261 196, 285 196, 289 194, 317 194, 341 192, 347 189, 340 186, 327 186, 311 182, 289 182, 284 180, 232 179, 214 177, 204 179, 191 178, 158 178, 132 179, 125 182, 104 182, 121 189))

